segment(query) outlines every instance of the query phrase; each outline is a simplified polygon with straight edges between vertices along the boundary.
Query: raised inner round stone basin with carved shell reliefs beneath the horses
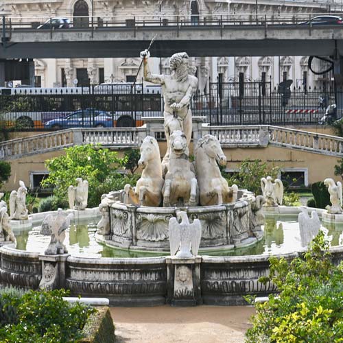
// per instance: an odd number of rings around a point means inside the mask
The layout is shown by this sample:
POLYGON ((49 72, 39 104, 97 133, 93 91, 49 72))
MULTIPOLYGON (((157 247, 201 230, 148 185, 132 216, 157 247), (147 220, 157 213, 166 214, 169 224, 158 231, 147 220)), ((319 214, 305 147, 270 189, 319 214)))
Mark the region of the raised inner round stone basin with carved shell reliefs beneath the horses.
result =
POLYGON ((252 211, 255 196, 246 189, 238 191, 236 202, 215 206, 136 206, 124 204, 122 198, 122 192, 118 192, 109 193, 102 200, 110 217, 110 233, 104 235, 104 243, 108 246, 169 252, 169 220, 177 217, 179 211, 187 212, 190 222, 196 218, 200 220, 200 249, 251 246, 263 235, 252 211))

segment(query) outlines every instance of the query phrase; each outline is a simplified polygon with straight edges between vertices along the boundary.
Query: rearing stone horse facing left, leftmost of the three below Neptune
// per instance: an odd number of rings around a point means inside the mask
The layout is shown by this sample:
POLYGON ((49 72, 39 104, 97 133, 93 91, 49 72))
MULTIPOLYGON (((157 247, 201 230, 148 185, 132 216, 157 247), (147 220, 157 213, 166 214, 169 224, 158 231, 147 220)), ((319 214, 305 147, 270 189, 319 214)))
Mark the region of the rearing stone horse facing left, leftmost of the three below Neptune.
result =
POLYGON ((160 148, 154 137, 147 136, 141 145, 139 166, 143 167, 142 176, 136 187, 127 184, 124 187, 126 204, 159 206, 162 202, 162 167, 160 148))

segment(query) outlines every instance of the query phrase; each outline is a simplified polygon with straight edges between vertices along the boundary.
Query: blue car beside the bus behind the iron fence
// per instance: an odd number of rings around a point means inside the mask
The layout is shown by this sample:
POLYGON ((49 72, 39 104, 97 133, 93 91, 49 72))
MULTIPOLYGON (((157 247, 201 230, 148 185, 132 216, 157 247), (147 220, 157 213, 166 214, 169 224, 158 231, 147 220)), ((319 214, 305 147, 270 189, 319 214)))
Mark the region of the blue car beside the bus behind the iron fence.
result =
POLYGON ((45 128, 112 128, 113 120, 102 110, 77 110, 71 115, 51 119, 44 124, 45 128))

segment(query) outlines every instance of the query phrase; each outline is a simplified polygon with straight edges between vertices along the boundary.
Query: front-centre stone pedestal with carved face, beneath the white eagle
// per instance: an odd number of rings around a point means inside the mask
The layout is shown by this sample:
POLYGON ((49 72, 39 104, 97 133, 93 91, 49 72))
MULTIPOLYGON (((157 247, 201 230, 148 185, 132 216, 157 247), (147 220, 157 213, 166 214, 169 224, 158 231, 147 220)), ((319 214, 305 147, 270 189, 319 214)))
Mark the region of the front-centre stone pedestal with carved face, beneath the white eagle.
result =
POLYGON ((202 303, 200 291, 201 257, 166 257, 167 303, 171 306, 196 306, 202 303))

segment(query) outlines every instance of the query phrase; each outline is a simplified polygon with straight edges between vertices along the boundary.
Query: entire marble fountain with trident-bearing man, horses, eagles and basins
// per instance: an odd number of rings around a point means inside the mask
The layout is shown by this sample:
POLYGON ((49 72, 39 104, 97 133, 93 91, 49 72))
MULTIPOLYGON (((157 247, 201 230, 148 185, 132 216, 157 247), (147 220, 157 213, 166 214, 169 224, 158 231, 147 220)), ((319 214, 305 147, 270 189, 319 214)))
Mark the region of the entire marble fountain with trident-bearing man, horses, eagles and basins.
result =
MULTIPOLYGON (((339 185, 328 181, 335 213, 281 206, 282 182, 273 183, 269 177, 261 180, 263 196, 229 186, 218 167, 226 165, 226 156, 211 134, 194 141, 195 161, 191 163, 189 102, 198 80, 189 74, 188 56, 180 53, 171 57, 171 75, 153 75, 148 52, 141 56, 145 80, 163 88, 167 138, 163 161, 156 139, 146 137, 139 161, 143 172, 136 187, 126 185, 122 191, 104 195, 95 209, 86 209, 88 185, 78 180, 78 187, 69 187, 70 210, 27 215, 26 187, 21 184, 13 193, 10 216, 0 202, 0 284, 32 289, 63 287, 73 295, 106 297, 111 305, 123 306, 238 305, 246 303, 244 296, 248 294, 276 292, 272 283, 259 282, 269 273, 270 253, 293 259, 304 249, 294 241, 294 232, 300 241, 298 224, 295 222, 291 230, 280 228, 279 215, 314 211, 327 222, 340 222, 343 211, 338 213, 335 206, 340 200, 334 196, 339 185), (82 247, 79 237, 75 249, 71 237, 78 236, 75 225, 84 221, 93 222, 93 226, 83 228, 86 244, 82 247), (34 229, 28 233, 31 227, 34 229), (66 235, 69 244, 64 245, 66 235), (287 241, 290 248, 278 249, 283 246, 280 241, 287 241), (102 257, 112 255, 111 251, 119 256, 126 252, 143 257, 102 257)), ((314 216, 312 213, 316 220, 314 216)), ((307 217, 305 223, 309 222, 307 217)), ((340 261, 343 247, 331 250, 333 258, 340 261)))

